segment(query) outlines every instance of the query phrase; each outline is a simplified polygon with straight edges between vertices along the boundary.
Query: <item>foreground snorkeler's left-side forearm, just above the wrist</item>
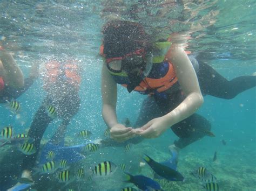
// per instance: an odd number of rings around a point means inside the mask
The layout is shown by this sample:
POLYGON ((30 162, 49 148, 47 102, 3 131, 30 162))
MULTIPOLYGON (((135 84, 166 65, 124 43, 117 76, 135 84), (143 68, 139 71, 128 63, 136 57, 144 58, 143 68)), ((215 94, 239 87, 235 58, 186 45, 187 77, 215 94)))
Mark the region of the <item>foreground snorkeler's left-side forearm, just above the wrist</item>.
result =
POLYGON ((107 126, 109 126, 109 128, 112 128, 112 126, 118 124, 116 109, 112 105, 103 105, 102 116, 107 126))

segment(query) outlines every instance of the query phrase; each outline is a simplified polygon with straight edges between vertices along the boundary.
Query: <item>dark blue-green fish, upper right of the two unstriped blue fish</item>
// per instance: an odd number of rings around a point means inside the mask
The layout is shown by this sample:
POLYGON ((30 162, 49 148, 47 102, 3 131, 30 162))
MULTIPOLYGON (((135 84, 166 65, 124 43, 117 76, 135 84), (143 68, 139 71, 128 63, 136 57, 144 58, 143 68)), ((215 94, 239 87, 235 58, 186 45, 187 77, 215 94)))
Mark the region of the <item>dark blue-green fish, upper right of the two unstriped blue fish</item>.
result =
POLYGON ((146 154, 143 159, 159 176, 170 181, 184 181, 183 175, 181 175, 178 171, 154 161, 146 154))

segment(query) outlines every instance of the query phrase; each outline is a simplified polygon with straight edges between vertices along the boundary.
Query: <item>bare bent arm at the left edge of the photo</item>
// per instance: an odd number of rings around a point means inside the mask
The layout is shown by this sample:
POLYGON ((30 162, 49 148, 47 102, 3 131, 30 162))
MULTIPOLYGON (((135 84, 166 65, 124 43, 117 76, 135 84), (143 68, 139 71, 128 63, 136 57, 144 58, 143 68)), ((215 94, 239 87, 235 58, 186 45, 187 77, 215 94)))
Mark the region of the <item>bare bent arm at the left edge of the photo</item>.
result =
POLYGON ((10 87, 22 88, 24 86, 23 73, 12 55, 6 51, 0 51, 0 59, 4 67, 3 77, 5 83, 10 87))

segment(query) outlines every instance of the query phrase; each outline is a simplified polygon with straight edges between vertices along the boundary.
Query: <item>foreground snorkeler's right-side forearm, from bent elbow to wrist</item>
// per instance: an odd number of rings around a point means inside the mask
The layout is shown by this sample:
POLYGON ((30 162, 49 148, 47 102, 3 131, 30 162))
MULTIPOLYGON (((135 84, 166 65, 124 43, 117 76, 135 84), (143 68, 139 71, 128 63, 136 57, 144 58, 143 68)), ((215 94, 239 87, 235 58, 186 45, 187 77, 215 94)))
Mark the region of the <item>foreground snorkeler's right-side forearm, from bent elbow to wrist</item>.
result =
POLYGON ((167 125, 172 126, 196 112, 204 102, 204 98, 200 93, 189 94, 177 108, 163 116, 167 125))

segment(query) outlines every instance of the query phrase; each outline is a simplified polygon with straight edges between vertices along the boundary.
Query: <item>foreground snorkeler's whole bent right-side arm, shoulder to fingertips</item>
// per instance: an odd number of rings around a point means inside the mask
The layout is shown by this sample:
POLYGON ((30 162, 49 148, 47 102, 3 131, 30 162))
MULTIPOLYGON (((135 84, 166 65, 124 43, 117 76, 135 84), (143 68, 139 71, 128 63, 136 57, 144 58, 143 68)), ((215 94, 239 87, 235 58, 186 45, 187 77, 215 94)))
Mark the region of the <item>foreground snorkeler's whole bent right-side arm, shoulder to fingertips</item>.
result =
POLYGON ((178 47, 170 49, 167 54, 167 60, 173 63, 179 84, 186 98, 168 114, 163 117, 154 118, 142 126, 142 128, 136 130, 138 135, 146 138, 160 136, 170 126, 191 116, 204 102, 196 72, 184 50, 178 47))

